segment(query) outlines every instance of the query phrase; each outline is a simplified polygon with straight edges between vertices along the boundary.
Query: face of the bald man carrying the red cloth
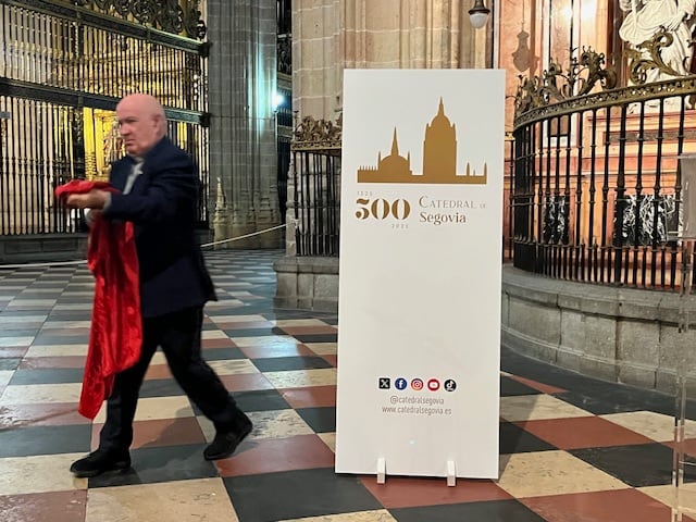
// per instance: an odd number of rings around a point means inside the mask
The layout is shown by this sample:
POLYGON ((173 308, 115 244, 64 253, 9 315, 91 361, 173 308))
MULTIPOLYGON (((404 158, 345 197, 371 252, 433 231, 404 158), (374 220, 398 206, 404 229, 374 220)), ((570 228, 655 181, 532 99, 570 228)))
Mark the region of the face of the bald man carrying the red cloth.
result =
POLYGON ((147 102, 124 98, 116 105, 119 129, 130 156, 142 157, 160 140, 160 117, 147 102))

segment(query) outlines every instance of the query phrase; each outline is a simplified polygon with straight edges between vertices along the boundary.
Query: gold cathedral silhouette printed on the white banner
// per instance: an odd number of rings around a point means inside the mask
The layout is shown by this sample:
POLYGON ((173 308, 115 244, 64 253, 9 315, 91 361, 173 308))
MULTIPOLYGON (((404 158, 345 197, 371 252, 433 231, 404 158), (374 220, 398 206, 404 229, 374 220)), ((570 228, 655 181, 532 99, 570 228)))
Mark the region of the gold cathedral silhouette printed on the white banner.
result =
POLYGON ((430 124, 425 126, 423 140, 423 173, 411 170, 411 153, 406 158, 399 154, 396 127, 391 138, 391 152, 382 158, 377 153, 377 166, 363 166, 358 170, 358 183, 409 183, 438 185, 485 185, 488 181, 488 166, 484 162, 483 174, 476 174, 467 163, 464 174, 457 174, 457 128, 445 115, 445 104, 439 99, 439 109, 430 124))

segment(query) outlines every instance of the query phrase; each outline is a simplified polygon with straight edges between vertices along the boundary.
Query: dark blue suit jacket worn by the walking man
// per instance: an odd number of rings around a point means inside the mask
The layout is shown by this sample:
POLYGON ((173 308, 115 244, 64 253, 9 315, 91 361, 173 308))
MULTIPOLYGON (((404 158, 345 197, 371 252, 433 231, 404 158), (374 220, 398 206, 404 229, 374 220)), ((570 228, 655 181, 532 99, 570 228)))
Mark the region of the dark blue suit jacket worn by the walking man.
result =
MULTIPOLYGON (((142 172, 126 195, 112 194, 108 220, 132 221, 140 271, 144 318, 215 299, 213 283, 196 240, 199 182, 190 157, 162 138, 144 158, 142 172)), ((123 190, 135 161, 111 167, 111 184, 123 190)))

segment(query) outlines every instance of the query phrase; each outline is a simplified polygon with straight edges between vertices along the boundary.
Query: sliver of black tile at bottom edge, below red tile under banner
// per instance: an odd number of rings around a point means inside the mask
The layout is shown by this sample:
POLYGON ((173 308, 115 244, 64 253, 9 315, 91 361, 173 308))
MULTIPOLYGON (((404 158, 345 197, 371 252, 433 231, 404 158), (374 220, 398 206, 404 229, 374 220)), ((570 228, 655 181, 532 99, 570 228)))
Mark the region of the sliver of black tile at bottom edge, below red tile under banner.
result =
POLYGON ((401 508, 389 512, 398 522, 544 522, 517 500, 401 508))

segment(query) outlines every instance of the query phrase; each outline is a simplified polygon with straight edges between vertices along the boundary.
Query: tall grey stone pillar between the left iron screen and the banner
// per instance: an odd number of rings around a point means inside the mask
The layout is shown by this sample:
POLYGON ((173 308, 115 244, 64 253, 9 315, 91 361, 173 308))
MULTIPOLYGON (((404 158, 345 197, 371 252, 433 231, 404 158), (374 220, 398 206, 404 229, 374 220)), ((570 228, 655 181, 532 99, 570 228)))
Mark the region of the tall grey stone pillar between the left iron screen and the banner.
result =
MULTIPOLYGON (((225 209, 215 240, 281 223, 277 201, 276 21, 274 0, 208 0, 210 179, 220 179, 225 209), (225 237, 222 237, 225 236, 225 237)), ((215 194, 213 200, 219 200, 215 194)), ((225 243, 224 248, 282 245, 279 231, 225 243)))

